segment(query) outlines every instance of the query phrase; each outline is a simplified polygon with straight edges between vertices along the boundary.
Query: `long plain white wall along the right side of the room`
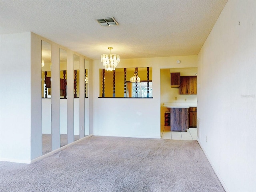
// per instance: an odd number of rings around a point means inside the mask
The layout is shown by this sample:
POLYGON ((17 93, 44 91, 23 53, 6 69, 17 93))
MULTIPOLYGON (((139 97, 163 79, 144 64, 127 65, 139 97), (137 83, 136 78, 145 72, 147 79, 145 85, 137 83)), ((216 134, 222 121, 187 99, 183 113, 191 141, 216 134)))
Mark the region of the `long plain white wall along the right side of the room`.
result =
POLYGON ((255 10, 228 1, 198 55, 200 145, 227 192, 256 189, 255 10))

